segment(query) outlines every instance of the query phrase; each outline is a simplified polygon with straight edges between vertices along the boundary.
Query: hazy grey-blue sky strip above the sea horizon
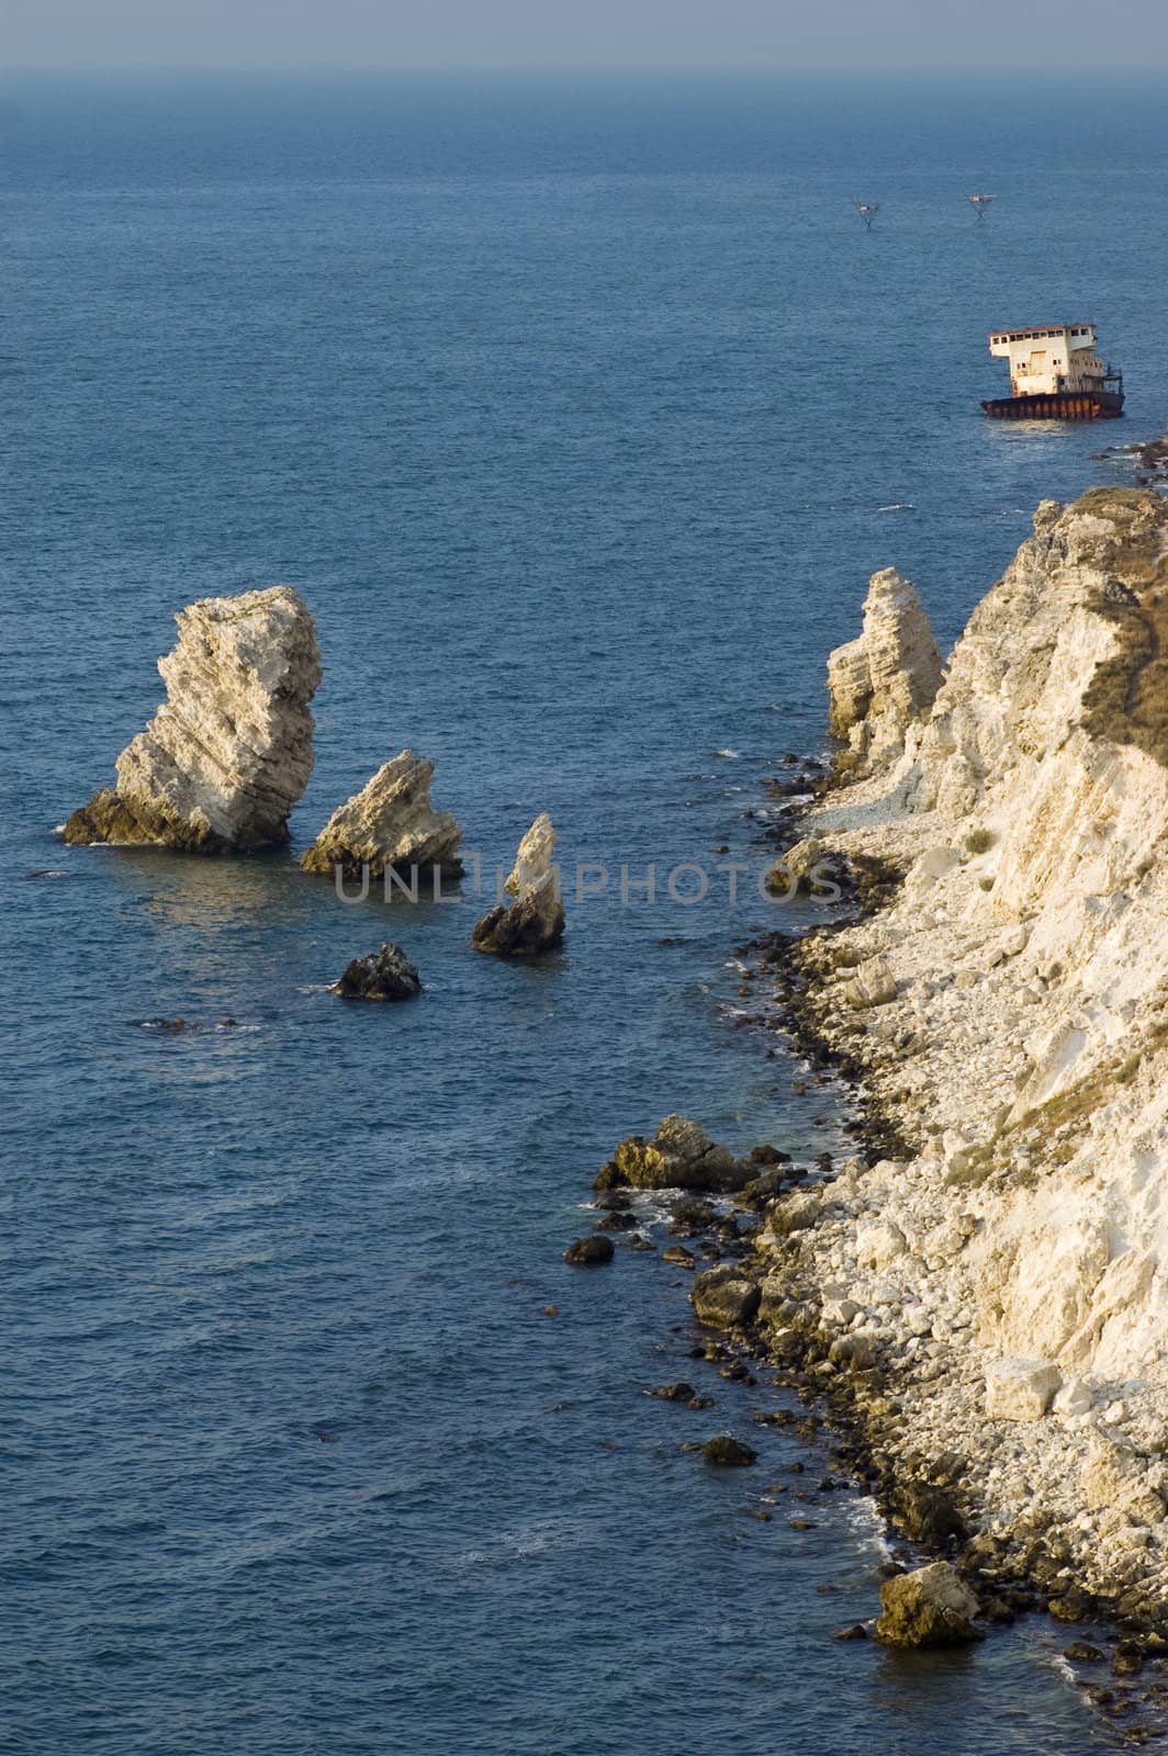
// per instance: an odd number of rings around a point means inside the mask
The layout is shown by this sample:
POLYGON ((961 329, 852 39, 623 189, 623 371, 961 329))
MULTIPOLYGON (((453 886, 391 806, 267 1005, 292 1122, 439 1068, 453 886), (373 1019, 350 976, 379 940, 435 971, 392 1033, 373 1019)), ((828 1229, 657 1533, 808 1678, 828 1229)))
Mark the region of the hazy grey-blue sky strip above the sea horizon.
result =
POLYGON ((0 0, 11 63, 1168 68, 1168 0, 0 0))

